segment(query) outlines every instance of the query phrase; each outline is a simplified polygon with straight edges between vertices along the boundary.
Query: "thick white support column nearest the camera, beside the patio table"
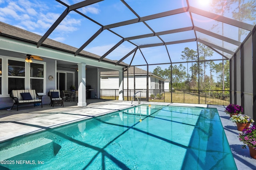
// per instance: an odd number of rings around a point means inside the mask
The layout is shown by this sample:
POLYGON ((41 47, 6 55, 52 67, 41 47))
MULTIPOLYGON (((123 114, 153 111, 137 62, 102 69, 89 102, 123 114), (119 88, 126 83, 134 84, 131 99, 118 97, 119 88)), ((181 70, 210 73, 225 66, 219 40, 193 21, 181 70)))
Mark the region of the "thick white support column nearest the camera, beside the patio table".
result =
POLYGON ((77 106, 86 106, 86 64, 78 65, 78 104, 77 106))

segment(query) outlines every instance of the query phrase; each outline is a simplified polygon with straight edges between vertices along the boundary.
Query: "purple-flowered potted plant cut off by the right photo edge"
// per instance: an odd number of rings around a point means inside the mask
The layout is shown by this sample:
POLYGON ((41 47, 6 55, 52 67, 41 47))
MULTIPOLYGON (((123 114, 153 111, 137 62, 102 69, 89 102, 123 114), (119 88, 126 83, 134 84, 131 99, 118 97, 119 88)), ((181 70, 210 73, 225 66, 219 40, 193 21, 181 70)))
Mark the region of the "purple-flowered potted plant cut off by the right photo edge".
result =
POLYGON ((250 156, 256 159, 256 126, 248 127, 239 133, 239 141, 242 141, 244 145, 242 148, 246 148, 246 145, 249 147, 250 156))

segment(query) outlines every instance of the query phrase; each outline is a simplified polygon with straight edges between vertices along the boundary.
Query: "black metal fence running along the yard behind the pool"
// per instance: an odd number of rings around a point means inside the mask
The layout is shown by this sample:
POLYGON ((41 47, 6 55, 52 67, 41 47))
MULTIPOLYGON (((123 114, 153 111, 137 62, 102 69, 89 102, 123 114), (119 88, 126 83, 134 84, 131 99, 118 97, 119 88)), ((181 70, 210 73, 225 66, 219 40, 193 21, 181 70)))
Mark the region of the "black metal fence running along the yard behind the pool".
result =
MULTIPOLYGON (((137 89, 124 90, 124 100, 132 101, 133 95, 141 91, 141 100, 146 101, 147 90, 137 89)), ((101 89, 100 98, 109 100, 118 100, 118 89, 101 89)), ((136 100, 136 99, 134 99, 136 100)), ((213 104, 228 105, 230 104, 229 90, 148 90, 149 102, 167 102, 167 103, 188 103, 188 104, 213 104)))

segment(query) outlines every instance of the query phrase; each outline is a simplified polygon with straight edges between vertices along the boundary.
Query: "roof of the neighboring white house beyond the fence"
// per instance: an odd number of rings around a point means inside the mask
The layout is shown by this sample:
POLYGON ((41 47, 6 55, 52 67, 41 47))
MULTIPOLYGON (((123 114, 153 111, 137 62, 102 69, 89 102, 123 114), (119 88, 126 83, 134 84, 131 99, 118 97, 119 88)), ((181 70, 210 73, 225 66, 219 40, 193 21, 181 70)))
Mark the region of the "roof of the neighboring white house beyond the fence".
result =
MULTIPOLYGON (((127 75, 127 70, 128 70, 128 74, 129 75, 146 75, 147 74, 147 71, 146 70, 143 70, 141 68, 138 68, 138 67, 128 67, 128 69, 125 69, 124 71, 124 75, 127 75), (134 70, 135 70, 135 73, 134 73, 134 70)), ((155 74, 153 74, 152 72, 148 72, 149 75, 153 75, 153 76, 156 76, 158 77, 159 79, 162 79, 164 80, 164 78, 160 77, 160 76, 157 76, 155 74)), ((119 75, 119 72, 118 71, 105 71, 105 72, 100 72, 100 76, 114 76, 114 75, 119 75)))

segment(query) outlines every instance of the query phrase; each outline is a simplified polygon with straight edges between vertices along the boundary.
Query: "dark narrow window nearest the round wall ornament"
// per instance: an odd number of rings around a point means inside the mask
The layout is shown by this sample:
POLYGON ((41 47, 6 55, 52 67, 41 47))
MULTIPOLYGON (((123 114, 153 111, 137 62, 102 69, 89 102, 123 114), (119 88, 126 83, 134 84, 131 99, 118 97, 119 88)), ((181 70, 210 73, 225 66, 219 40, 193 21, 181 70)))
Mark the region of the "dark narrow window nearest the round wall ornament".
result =
POLYGON ((30 88, 44 92, 44 64, 30 63, 30 88))

